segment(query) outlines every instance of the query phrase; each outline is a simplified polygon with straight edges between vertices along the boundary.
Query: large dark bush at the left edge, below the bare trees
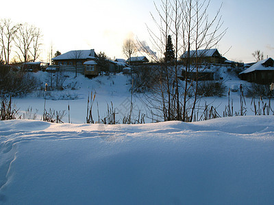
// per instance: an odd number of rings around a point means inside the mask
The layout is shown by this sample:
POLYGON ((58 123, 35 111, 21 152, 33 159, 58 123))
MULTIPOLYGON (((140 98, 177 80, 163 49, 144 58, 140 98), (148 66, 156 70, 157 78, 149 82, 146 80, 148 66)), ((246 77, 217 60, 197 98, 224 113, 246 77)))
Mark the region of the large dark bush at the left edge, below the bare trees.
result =
POLYGON ((0 95, 21 96, 38 87, 38 81, 29 73, 14 72, 11 66, 0 66, 0 95))

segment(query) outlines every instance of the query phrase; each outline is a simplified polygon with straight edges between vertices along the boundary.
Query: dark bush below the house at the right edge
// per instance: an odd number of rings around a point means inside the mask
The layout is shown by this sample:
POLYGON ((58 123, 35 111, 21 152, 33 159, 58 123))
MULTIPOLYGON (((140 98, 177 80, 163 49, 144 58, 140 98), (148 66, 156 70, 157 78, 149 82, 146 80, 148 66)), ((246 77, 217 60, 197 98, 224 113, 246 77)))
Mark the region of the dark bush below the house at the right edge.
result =
POLYGON ((245 92, 246 96, 251 98, 273 98, 274 96, 269 85, 260 85, 257 83, 251 83, 249 87, 245 87, 245 92))

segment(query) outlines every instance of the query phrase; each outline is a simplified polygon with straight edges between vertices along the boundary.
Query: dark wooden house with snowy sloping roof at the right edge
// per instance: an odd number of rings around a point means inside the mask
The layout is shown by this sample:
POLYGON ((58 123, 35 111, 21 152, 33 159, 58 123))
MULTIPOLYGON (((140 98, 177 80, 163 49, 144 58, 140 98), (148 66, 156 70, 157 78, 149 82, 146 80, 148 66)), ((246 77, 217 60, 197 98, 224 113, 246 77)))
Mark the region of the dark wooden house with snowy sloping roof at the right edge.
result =
POLYGON ((274 60, 269 57, 240 72, 240 79, 259 84, 274 82, 274 60))

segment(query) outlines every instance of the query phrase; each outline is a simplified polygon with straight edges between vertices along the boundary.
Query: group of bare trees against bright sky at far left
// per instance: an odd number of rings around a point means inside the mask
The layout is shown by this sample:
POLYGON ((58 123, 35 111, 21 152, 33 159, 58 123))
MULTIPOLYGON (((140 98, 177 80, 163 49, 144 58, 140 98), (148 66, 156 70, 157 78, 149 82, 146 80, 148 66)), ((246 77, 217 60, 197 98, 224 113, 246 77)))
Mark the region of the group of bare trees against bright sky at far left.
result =
POLYGON ((28 23, 13 23, 10 19, 0 19, 0 62, 35 61, 41 53, 42 32, 28 23))

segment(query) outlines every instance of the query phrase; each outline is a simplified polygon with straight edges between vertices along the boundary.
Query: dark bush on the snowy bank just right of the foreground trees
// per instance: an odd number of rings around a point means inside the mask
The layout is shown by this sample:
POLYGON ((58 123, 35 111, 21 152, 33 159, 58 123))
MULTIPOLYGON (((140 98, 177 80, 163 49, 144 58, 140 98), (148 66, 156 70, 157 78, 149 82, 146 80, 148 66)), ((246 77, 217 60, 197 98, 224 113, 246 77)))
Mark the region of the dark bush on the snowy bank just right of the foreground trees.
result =
POLYGON ((199 96, 225 96, 226 87, 223 81, 200 81, 197 87, 197 94, 199 96))

